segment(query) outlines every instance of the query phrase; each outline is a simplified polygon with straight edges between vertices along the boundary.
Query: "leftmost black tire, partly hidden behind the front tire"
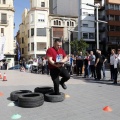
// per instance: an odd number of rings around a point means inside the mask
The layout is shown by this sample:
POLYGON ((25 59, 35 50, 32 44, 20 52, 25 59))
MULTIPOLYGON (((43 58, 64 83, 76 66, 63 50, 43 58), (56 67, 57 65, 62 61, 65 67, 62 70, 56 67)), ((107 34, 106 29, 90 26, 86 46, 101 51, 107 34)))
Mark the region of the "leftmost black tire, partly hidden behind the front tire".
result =
POLYGON ((32 93, 32 91, 30 90, 16 90, 10 93, 10 99, 12 101, 17 101, 18 100, 18 96, 24 93, 32 93))

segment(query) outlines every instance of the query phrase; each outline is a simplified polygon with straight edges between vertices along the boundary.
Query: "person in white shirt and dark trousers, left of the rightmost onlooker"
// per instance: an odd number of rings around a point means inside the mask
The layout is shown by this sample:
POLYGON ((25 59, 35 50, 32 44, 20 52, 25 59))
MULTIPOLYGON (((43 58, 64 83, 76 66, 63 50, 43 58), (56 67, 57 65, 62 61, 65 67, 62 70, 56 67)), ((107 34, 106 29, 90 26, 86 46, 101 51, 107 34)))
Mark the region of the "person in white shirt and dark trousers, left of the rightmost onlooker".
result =
POLYGON ((114 80, 114 59, 115 59, 115 49, 111 50, 110 55, 110 73, 111 73, 111 80, 114 80))

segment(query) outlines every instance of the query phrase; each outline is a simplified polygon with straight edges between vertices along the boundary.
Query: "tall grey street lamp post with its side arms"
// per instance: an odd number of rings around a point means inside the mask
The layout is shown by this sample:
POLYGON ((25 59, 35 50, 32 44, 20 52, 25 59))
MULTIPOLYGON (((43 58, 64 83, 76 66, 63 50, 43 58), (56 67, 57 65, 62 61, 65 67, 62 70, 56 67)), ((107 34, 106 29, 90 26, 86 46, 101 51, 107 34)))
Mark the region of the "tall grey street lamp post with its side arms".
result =
POLYGON ((86 5, 94 7, 96 9, 96 41, 97 41, 97 49, 99 49, 99 22, 101 23, 107 23, 106 21, 102 21, 102 20, 98 20, 98 8, 100 6, 100 4, 96 4, 96 5, 92 5, 87 3, 86 5))

